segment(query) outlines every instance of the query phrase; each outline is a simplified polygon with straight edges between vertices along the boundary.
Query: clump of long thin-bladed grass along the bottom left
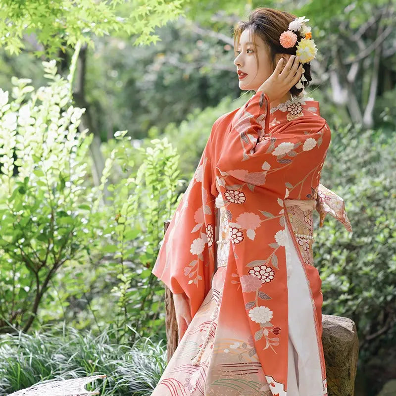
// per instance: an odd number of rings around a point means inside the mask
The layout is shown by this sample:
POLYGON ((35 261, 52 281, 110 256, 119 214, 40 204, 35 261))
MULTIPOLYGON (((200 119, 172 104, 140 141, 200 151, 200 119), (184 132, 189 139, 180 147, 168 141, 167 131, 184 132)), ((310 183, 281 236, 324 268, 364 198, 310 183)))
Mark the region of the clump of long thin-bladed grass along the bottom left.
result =
MULTIPOLYGON (((131 329, 133 330, 133 329, 131 329)), ((166 347, 140 338, 131 345, 113 343, 113 330, 98 336, 73 328, 45 327, 32 335, 0 337, 0 396, 49 379, 106 374, 87 385, 103 396, 149 396, 166 366, 166 347)))

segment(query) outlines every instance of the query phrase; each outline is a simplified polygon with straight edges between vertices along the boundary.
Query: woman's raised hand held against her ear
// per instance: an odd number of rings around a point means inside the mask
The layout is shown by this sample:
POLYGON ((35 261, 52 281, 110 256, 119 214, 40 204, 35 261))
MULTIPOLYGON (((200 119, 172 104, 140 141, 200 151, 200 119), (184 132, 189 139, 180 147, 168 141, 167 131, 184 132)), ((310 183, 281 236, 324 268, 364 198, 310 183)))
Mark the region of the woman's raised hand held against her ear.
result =
POLYGON ((299 56, 292 55, 283 67, 284 59, 279 59, 274 72, 261 84, 257 92, 264 91, 270 102, 283 98, 301 78, 303 67, 302 64, 298 67, 298 61, 299 56))

